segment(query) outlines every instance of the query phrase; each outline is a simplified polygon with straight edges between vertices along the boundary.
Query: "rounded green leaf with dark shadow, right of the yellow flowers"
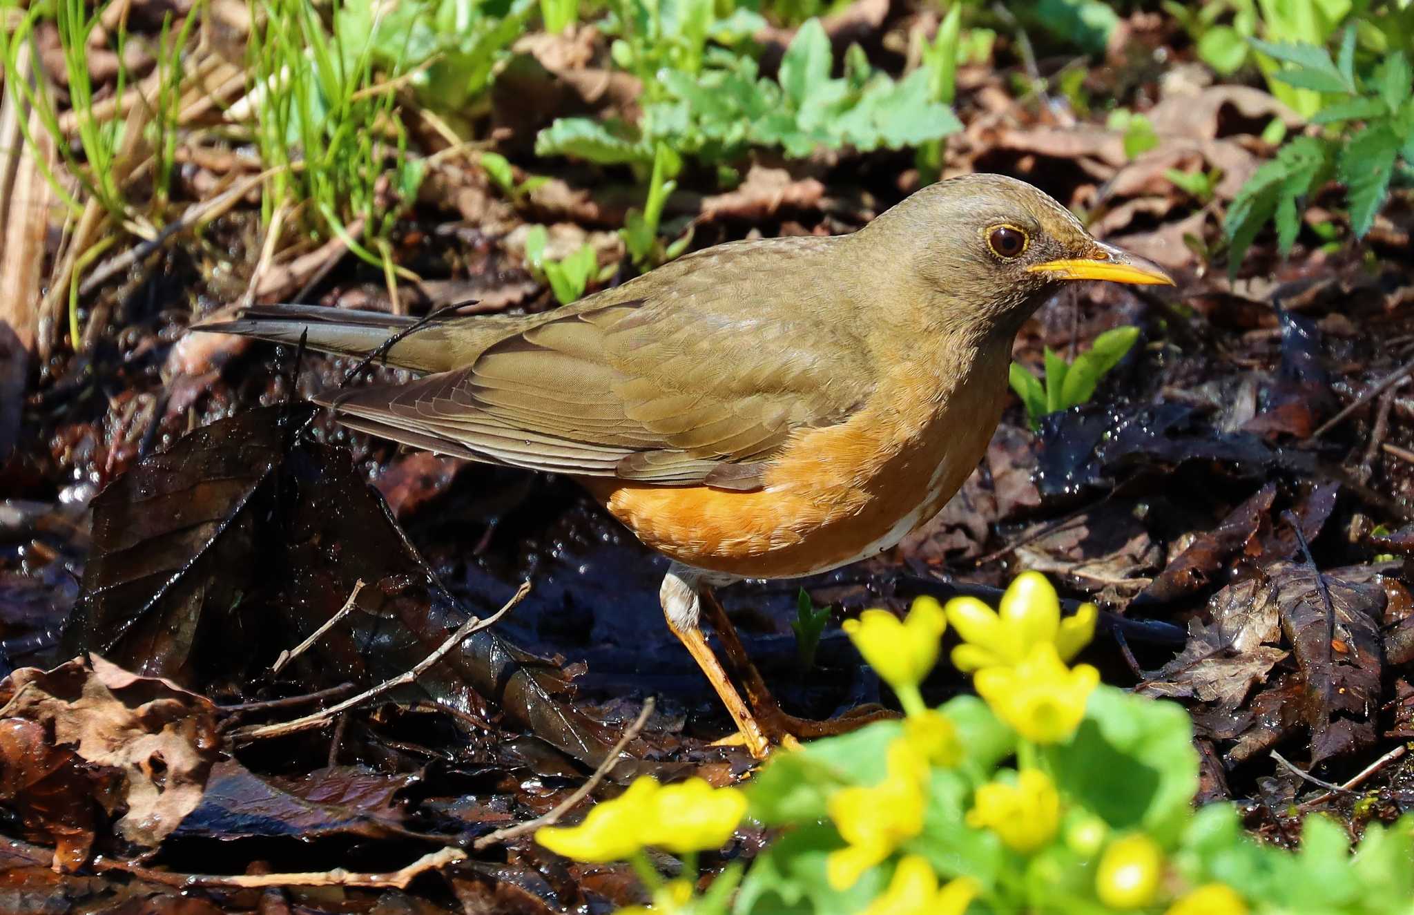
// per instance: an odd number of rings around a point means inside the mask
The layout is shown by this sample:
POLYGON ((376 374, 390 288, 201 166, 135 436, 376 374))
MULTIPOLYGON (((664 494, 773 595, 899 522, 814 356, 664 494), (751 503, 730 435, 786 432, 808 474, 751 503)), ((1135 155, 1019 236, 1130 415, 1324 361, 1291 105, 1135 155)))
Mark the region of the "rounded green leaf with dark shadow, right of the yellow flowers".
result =
POLYGON ((1113 829, 1143 829, 1168 844, 1188 822, 1198 792, 1192 731, 1182 706, 1102 684, 1075 738, 1044 754, 1062 795, 1113 829))

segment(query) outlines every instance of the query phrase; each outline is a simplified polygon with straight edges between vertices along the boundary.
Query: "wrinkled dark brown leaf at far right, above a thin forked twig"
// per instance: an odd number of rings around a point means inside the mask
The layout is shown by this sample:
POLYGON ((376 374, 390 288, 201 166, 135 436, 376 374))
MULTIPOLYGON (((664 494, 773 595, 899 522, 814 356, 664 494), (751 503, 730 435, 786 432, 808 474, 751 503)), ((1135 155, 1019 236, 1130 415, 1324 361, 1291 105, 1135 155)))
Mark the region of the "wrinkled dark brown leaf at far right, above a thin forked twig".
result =
POLYGON ((1281 628, 1305 679, 1301 710, 1311 727, 1311 765, 1367 748, 1380 704, 1376 621, 1384 612, 1384 590, 1339 574, 1321 576, 1322 588, 1312 569, 1295 563, 1278 563, 1271 578, 1281 628))

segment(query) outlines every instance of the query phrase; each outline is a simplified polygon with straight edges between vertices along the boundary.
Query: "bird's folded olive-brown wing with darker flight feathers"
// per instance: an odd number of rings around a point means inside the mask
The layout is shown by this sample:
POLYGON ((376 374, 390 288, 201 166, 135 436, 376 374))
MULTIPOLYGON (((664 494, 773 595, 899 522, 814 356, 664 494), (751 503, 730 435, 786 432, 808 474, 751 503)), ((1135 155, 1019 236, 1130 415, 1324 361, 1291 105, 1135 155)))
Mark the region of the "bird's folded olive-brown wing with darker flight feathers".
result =
POLYGON ((854 322, 782 303, 749 255, 725 280, 684 264, 503 335, 465 368, 328 403, 356 429, 496 464, 756 488, 793 430, 843 421, 874 382, 854 322))

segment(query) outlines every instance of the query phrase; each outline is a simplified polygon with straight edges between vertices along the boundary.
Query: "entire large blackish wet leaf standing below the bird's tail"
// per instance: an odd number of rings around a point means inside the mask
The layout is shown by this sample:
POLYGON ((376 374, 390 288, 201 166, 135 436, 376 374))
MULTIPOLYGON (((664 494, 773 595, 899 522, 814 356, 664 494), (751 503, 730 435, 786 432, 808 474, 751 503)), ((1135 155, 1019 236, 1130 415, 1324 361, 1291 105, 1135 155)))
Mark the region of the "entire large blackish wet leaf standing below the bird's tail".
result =
MULTIPOLYGON (((348 451, 297 434, 310 407, 249 410, 143 460, 95 501, 95 556, 65 646, 192 686, 260 679, 369 583, 301 659, 308 690, 370 686, 438 648, 465 611, 348 451)), ((485 598, 488 615, 505 595, 485 598)), ((559 694, 554 665, 484 629, 395 699, 484 717, 486 703, 577 759, 612 740, 559 694)))

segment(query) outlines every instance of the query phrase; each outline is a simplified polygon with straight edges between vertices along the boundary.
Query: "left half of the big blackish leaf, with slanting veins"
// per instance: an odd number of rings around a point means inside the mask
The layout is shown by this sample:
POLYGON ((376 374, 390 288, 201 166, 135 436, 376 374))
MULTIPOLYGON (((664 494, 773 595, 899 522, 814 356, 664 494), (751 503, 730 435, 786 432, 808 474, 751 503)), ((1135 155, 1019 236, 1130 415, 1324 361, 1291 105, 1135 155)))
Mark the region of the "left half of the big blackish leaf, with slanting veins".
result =
MULTIPOLYGON (((96 651, 147 676, 195 683, 208 649, 259 642, 232 612, 271 561, 269 489, 288 433, 312 407, 249 410, 143 458, 93 499, 93 553, 64 628, 66 655, 96 651)), ((225 659, 225 665, 232 658, 225 659)))

